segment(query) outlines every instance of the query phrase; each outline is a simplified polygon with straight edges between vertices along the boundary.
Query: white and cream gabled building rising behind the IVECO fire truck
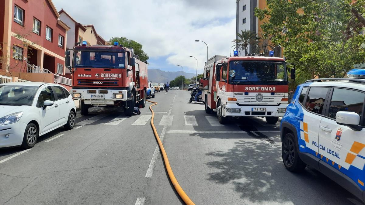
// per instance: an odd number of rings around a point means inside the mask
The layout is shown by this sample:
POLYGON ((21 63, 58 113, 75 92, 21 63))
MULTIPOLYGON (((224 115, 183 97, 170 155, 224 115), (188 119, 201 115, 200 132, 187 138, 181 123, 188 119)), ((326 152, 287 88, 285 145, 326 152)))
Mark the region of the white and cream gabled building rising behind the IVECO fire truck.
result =
MULTIPOLYGON (((86 41, 88 45, 107 45, 107 41, 101 38, 97 34, 93 24, 84 25, 78 23, 75 19, 71 17, 63 8, 59 13, 59 18, 70 26, 70 30, 67 31, 69 36, 66 42, 66 48, 72 49, 76 43, 82 43, 86 41)), ((73 53, 70 53, 70 58, 72 59, 73 53)), ((70 71, 66 71, 66 75, 70 75, 70 71)))

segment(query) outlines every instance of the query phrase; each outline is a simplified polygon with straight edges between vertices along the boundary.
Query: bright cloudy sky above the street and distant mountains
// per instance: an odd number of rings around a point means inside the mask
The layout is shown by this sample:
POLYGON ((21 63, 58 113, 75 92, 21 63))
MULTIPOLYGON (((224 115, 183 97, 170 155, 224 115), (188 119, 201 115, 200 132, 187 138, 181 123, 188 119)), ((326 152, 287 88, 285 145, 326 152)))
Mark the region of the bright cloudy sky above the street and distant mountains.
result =
POLYGON ((234 0, 53 0, 81 24, 94 24, 105 40, 126 37, 142 43, 149 68, 195 73, 213 55, 230 55, 235 38, 234 0))

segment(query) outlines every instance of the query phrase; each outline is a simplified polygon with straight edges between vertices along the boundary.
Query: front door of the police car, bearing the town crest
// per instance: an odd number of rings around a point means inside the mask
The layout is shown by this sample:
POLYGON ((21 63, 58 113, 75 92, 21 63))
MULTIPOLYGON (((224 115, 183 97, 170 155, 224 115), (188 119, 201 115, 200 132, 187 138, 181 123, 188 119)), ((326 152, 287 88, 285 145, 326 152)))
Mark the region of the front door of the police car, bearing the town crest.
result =
POLYGON ((326 117, 320 122, 319 154, 324 162, 347 175, 362 190, 365 183, 365 129, 356 131, 336 123, 338 111, 356 112, 360 125, 364 120, 365 93, 343 88, 334 88, 326 117))

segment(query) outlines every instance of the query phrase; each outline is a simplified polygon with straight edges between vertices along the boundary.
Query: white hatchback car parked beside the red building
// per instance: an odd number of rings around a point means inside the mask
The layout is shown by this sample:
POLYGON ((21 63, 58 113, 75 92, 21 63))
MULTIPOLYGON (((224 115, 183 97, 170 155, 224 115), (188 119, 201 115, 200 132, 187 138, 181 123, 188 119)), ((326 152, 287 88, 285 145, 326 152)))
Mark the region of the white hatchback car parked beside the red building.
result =
POLYGON ((31 148, 47 132, 61 126, 72 129, 75 117, 75 103, 62 85, 0 84, 0 148, 31 148))

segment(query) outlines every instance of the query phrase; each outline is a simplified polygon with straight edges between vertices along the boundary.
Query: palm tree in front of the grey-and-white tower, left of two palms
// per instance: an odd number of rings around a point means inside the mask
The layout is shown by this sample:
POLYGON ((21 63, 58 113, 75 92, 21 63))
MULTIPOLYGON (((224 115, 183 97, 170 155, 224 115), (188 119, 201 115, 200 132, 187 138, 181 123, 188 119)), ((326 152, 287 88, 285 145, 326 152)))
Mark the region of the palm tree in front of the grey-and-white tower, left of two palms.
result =
POLYGON ((232 40, 235 43, 232 47, 236 47, 237 50, 245 50, 245 55, 247 55, 247 47, 250 45, 255 48, 257 46, 257 39, 255 32, 241 30, 241 34, 237 33, 237 39, 232 40))

